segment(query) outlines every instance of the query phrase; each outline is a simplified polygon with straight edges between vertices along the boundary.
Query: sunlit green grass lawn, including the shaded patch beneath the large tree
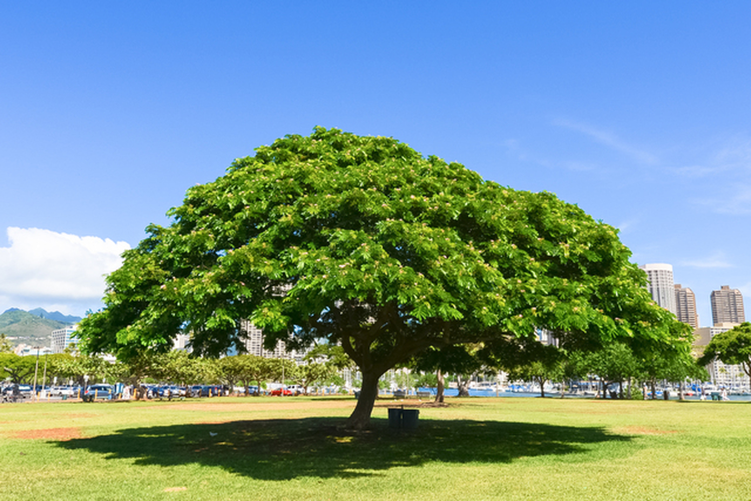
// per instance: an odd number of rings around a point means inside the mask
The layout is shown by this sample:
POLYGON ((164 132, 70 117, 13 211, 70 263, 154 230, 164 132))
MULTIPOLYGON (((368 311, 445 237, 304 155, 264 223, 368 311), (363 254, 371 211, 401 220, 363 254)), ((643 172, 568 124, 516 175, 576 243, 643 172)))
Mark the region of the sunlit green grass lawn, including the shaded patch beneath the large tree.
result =
POLYGON ((351 398, 0 405, 2 499, 751 499, 751 406, 351 398), (382 406, 383 405, 383 406, 382 406))

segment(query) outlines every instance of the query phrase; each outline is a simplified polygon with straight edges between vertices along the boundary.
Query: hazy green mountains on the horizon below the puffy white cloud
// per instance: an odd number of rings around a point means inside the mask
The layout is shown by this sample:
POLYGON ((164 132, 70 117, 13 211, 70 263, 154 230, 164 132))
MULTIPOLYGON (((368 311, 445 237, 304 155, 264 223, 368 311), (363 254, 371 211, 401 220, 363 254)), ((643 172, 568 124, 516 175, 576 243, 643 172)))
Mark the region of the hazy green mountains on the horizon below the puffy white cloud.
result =
POLYGON ((74 315, 63 315, 61 312, 47 312, 42 308, 35 308, 28 312, 23 309, 11 308, 0 315, 0 333, 10 338, 11 343, 31 345, 50 345, 50 334, 53 330, 62 329, 75 324, 81 318, 74 315))

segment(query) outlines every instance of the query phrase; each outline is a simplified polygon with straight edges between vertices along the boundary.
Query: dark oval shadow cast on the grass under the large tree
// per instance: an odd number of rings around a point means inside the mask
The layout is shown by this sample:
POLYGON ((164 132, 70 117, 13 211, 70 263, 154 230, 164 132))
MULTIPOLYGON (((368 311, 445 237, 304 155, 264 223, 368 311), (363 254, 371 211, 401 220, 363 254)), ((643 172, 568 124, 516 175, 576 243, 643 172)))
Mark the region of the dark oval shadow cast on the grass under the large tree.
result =
POLYGON ((261 480, 288 480, 378 475, 394 466, 431 461, 510 463, 520 457, 583 454, 598 443, 630 440, 598 427, 498 421, 424 420, 409 432, 391 430, 384 419, 373 419, 366 432, 344 425, 336 418, 175 424, 56 444, 108 459, 131 458, 140 465, 199 463, 261 480))

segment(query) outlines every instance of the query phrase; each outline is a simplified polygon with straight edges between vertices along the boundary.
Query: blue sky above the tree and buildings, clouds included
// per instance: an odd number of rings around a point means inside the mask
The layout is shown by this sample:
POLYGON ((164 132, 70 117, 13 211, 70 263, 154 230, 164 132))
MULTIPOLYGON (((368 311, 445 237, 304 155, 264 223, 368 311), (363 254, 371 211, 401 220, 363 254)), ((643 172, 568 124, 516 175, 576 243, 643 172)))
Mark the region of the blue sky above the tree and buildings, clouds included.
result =
POLYGON ((315 125, 578 204, 701 324, 751 294, 751 4, 360 3, 0 3, 0 311, 98 308, 185 189, 315 125))

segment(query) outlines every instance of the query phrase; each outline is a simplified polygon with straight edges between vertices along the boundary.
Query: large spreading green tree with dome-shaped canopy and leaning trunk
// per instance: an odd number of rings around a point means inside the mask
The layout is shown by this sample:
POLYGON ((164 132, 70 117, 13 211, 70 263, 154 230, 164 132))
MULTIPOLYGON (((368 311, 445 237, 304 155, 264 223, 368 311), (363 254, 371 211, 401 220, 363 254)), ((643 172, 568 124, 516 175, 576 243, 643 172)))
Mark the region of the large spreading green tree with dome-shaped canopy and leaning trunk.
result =
POLYGON ((656 340, 674 321, 644 290, 617 231, 547 192, 520 192, 389 137, 315 128, 238 158, 192 187, 168 227, 125 252, 105 308, 80 324, 89 352, 341 343, 363 375, 363 427, 378 380, 429 346, 526 336, 593 345, 656 340))

